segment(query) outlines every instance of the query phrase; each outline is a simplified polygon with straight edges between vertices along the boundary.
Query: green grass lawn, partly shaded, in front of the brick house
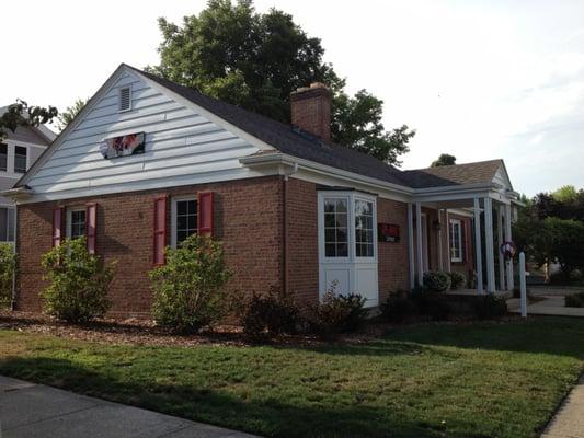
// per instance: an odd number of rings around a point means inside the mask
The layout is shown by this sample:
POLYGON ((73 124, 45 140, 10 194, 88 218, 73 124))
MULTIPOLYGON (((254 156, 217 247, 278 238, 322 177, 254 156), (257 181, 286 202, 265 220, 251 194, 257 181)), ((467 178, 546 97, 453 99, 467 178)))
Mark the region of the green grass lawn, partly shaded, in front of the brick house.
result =
POLYGON ((535 437, 584 320, 425 325, 367 344, 147 347, 0 331, 0 374, 266 436, 535 437))

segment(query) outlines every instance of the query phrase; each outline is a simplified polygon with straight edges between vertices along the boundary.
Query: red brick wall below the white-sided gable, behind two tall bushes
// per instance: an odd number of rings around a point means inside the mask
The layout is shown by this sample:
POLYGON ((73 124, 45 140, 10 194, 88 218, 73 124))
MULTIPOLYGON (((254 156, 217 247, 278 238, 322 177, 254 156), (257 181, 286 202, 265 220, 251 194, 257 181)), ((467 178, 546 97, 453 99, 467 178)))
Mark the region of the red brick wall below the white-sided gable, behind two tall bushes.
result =
MULTIPOLYGON (((53 209, 96 203, 98 254, 105 261, 118 261, 118 273, 110 290, 112 313, 149 312, 151 291, 147 274, 152 268, 153 199, 161 194, 173 196, 202 191, 215 194, 215 235, 224 241, 227 264, 233 273, 229 287, 249 293, 280 286, 282 182, 274 176, 19 206, 16 307, 41 309, 38 293, 45 284, 39 263, 42 254, 51 245, 53 209)), ((170 200, 168 211, 170 232, 170 200)))

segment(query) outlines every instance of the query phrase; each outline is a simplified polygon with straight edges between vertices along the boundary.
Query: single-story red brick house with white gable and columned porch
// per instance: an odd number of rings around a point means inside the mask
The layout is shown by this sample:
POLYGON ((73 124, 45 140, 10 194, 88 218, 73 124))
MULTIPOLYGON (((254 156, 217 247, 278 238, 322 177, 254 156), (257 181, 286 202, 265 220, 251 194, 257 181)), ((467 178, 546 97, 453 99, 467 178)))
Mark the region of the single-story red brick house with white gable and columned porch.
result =
POLYGON ((39 309, 42 255, 78 235, 119 262, 112 314, 149 312, 148 272, 195 232, 224 242, 242 295, 277 287, 314 302, 335 285, 373 307, 428 269, 512 287, 495 255, 516 198, 503 161, 400 171, 330 141, 322 84, 290 100, 295 126, 121 65, 8 193, 15 307, 39 309))

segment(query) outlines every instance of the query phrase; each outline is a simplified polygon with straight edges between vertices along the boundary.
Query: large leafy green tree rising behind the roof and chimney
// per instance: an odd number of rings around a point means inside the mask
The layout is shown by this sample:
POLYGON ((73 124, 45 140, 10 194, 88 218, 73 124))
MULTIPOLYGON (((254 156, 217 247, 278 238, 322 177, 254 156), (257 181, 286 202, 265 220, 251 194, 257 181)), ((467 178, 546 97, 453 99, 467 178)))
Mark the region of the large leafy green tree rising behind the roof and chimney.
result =
POLYGON ((319 38, 309 37, 291 15, 257 13, 251 0, 210 0, 182 25, 159 19, 160 65, 147 70, 213 97, 289 123, 289 95, 311 82, 333 93, 333 140, 399 165, 415 131, 386 131, 383 102, 365 90, 348 96, 319 38))

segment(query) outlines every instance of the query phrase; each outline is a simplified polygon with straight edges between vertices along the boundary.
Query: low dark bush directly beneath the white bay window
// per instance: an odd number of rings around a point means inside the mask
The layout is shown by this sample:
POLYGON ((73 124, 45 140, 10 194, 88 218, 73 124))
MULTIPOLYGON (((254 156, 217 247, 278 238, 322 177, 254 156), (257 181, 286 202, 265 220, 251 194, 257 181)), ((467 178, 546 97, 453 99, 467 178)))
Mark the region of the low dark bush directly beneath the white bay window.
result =
POLYGON ((339 333, 357 330, 367 318, 365 301, 360 295, 335 295, 334 289, 327 291, 318 304, 308 308, 306 319, 309 331, 331 338, 339 333))

